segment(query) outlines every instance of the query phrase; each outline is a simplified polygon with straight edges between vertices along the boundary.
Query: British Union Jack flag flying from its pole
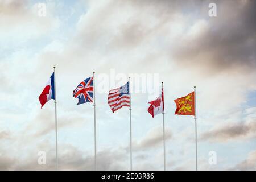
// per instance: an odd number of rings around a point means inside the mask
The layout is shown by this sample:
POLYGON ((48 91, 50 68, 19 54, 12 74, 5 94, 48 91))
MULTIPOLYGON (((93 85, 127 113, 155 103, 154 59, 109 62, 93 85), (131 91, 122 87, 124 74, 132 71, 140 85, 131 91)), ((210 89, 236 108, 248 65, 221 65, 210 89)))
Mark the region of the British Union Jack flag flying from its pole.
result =
POLYGON ((73 91, 73 97, 78 98, 79 104, 93 102, 93 76, 82 81, 73 91))

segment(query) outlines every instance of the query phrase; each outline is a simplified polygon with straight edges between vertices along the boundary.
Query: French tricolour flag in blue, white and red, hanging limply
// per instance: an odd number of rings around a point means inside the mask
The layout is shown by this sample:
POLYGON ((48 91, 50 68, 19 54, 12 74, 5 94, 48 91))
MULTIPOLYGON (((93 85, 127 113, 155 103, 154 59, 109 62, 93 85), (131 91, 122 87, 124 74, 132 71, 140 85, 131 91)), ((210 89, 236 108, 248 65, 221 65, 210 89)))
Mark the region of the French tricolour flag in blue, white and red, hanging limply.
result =
POLYGON ((46 87, 43 89, 43 92, 39 96, 39 101, 41 103, 41 108, 51 99, 55 99, 54 95, 54 73, 49 78, 46 87))

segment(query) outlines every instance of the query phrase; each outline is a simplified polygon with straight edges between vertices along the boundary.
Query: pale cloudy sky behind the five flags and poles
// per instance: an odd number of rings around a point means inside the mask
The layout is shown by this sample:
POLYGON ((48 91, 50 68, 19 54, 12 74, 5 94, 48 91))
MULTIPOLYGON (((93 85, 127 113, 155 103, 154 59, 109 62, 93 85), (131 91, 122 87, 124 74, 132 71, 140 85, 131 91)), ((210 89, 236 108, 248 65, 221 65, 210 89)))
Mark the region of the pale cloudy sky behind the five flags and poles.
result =
POLYGON ((93 105, 72 97, 93 72, 98 170, 130 169, 129 108, 112 113, 107 102, 128 77, 134 170, 163 170, 162 115, 147 112, 162 81, 167 170, 195 170, 195 120, 174 115, 193 86, 199 170, 255 170, 255 9, 254 0, 0 0, 0 169, 55 169, 54 101, 38 100, 55 66, 60 170, 94 169, 93 105))

